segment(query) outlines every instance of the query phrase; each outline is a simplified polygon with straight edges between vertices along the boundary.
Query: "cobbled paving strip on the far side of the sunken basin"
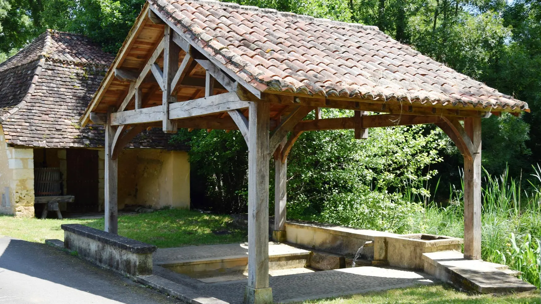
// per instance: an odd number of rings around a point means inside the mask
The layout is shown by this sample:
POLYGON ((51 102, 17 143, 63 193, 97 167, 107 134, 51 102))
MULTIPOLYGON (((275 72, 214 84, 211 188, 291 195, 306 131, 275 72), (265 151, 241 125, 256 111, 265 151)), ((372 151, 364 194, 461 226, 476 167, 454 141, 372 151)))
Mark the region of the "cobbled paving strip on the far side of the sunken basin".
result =
MULTIPOLYGON (((306 253, 308 250, 288 244, 269 242, 269 256, 306 253)), ((248 256, 248 243, 160 248, 153 254, 152 259, 155 264, 161 264, 172 261, 212 259, 213 257, 218 259, 225 256, 248 256)))

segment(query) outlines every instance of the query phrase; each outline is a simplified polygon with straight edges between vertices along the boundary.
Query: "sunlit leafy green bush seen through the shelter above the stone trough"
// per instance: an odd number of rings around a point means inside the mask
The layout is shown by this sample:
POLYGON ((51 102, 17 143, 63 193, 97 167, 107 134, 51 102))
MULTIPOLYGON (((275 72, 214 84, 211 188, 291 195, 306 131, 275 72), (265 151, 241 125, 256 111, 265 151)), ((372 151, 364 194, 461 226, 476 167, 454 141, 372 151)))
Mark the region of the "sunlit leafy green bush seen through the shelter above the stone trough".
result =
MULTIPOLYGON (((348 112, 324 110, 324 117, 348 112)), ((353 130, 307 132, 288 157, 288 218, 399 232, 419 210, 401 192, 428 195, 436 171, 427 167, 441 161, 444 144, 419 126, 371 129, 362 141, 353 130)))

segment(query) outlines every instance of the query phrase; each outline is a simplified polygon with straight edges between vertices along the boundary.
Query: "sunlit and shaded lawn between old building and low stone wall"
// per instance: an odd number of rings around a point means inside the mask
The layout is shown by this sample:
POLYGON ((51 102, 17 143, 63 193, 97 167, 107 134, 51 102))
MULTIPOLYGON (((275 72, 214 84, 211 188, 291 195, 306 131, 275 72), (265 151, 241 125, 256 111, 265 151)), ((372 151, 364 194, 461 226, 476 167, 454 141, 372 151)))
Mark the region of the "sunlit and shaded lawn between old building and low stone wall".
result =
MULTIPOLYGON (((42 243, 46 239, 64 240, 64 231, 60 225, 73 223, 103 229, 103 218, 41 220, 0 216, 0 234, 30 242, 42 243)), ((231 217, 227 215, 179 209, 120 216, 118 217, 118 234, 156 245, 159 248, 234 243, 247 240, 246 230, 234 227, 231 217), (223 230, 228 230, 231 233, 213 233, 223 230)))

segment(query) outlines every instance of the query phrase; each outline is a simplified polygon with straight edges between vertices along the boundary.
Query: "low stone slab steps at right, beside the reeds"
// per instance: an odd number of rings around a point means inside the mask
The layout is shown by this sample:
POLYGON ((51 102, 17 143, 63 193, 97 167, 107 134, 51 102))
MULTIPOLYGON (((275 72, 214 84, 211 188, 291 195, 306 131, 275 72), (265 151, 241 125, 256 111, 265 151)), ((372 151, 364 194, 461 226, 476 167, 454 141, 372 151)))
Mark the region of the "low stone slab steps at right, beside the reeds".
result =
POLYGON ((536 288, 506 273, 504 270, 508 269, 505 265, 467 260, 454 250, 424 253, 423 262, 426 273, 460 289, 479 293, 508 293, 536 288))

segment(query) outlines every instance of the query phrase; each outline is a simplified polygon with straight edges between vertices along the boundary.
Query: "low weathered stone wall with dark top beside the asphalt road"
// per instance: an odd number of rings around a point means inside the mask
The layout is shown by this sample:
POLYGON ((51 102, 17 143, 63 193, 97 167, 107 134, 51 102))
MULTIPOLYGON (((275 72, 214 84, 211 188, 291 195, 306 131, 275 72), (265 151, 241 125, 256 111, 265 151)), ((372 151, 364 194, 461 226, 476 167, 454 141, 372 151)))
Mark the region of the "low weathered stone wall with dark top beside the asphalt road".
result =
POLYGON ((63 224, 64 247, 96 265, 135 279, 152 274, 156 246, 80 224, 63 224))

